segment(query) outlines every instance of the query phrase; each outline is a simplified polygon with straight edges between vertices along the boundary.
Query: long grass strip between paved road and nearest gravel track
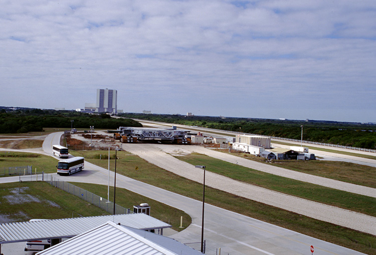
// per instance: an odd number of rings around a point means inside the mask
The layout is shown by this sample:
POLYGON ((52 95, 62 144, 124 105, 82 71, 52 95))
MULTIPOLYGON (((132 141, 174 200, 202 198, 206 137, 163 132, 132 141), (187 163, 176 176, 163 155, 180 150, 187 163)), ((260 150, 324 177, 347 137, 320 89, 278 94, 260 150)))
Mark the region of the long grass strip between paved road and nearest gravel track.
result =
MULTIPOLYGON (((75 156, 84 156, 87 161, 107 169, 108 160, 96 159, 98 154, 104 155, 108 153, 107 151, 72 151, 72 153, 75 156)), ((112 154, 115 154, 115 152, 111 151, 112 154)), ((124 151, 118 152, 117 157, 117 173, 187 197, 202 199, 202 184, 200 183, 165 171, 124 151)), ((113 170, 115 160, 111 159, 110 161, 110 169, 113 170)), ((208 166, 208 164, 206 165, 208 166)), ((207 169, 209 170, 209 167, 207 169)), ((205 201, 354 250, 368 254, 376 253, 376 236, 370 234, 315 220, 210 187, 205 190, 205 201)))

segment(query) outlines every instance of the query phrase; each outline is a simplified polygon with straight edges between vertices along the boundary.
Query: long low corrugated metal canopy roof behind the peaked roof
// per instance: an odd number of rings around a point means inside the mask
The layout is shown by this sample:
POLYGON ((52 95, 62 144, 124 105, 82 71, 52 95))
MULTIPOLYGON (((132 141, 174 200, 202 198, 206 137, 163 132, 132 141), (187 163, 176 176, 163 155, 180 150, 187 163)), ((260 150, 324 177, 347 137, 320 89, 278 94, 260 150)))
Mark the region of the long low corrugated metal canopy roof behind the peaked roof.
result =
POLYGON ((12 222, 0 224, 0 243, 72 237, 107 221, 144 230, 171 227, 144 213, 12 222))

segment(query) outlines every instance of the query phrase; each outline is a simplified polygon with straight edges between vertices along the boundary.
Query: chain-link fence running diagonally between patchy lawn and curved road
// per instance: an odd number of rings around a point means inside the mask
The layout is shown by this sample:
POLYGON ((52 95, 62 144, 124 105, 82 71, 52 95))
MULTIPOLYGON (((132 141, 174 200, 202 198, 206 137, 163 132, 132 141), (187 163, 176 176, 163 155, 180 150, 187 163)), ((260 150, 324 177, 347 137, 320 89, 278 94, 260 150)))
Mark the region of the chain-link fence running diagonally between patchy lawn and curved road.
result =
MULTIPOLYGON (((106 198, 98 196, 90 191, 87 191, 86 189, 77 187, 76 185, 73 185, 69 182, 59 180, 58 178, 55 178, 53 176, 50 176, 50 178, 46 178, 45 176, 45 179, 46 182, 50 183, 52 186, 60 188, 77 197, 80 197, 81 199, 84 199, 85 201, 95 206, 98 206, 99 208, 107 211, 108 213, 114 214, 114 203, 108 201, 106 198)), ((115 204, 115 214, 126 213, 133 213, 133 211, 131 211, 129 208, 125 208, 121 205, 115 204)))

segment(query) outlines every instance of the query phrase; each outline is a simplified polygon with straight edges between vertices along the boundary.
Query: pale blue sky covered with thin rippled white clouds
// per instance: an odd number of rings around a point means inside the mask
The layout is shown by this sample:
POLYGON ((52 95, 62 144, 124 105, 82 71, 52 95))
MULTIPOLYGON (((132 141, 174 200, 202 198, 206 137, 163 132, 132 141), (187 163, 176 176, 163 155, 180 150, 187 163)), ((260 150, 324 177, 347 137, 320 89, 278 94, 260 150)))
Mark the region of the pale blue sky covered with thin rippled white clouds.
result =
POLYGON ((0 4, 0 106, 376 122, 374 0, 0 4))

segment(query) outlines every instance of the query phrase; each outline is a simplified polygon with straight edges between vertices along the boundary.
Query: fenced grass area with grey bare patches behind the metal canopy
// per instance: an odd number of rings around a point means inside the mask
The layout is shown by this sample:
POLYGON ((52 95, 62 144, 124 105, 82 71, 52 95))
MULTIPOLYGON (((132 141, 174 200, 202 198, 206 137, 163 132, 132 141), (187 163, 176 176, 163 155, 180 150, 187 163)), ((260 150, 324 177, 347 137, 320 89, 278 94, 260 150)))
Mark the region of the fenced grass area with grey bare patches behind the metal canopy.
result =
POLYGON ((2 223, 32 218, 54 219, 108 214, 101 208, 46 182, 3 183, 0 189, 2 223))

